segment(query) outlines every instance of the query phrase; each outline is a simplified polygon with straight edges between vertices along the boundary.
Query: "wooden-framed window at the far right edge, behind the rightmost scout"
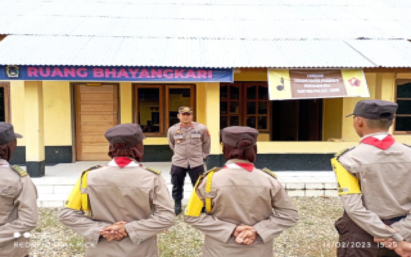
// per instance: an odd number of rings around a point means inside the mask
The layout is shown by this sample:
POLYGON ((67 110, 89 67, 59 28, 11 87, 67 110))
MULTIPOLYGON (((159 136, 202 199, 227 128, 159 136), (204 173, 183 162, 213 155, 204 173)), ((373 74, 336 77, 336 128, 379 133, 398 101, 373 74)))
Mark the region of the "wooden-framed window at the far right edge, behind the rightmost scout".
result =
POLYGON ((397 79, 395 102, 398 109, 395 114, 395 134, 411 134, 411 80, 397 79))

